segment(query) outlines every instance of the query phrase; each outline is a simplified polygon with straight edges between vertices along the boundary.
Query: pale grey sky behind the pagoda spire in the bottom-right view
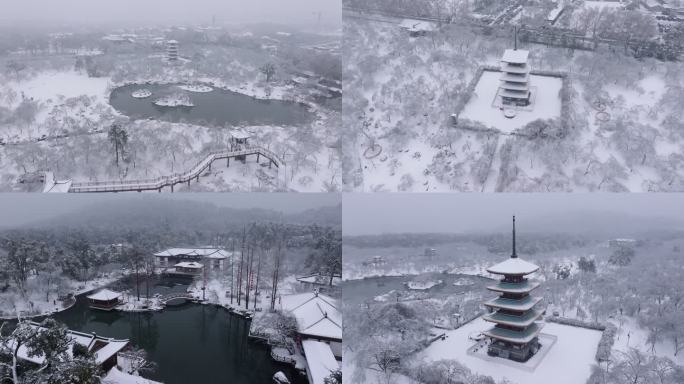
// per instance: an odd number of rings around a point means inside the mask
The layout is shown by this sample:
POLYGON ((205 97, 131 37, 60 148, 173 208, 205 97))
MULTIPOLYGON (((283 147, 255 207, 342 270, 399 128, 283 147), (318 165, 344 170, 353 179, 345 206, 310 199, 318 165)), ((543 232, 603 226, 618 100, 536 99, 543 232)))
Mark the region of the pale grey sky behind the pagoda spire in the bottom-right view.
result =
MULTIPOLYGON (((524 224, 533 218, 582 212, 615 212, 679 222, 684 218, 684 194, 345 194, 342 230, 344 235, 500 230, 510 225, 514 214, 519 224, 521 220, 524 224)), ((591 224, 583 225, 590 228, 591 224)))

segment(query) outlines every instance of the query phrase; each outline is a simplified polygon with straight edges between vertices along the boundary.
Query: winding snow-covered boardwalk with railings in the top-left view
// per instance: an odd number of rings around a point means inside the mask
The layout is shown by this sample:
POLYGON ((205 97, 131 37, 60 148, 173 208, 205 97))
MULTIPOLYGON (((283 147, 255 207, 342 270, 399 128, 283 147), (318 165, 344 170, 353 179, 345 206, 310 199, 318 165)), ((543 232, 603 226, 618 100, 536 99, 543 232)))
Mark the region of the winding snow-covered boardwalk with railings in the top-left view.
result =
POLYGON ((69 188, 70 193, 95 193, 95 192, 142 192, 142 191, 159 191, 164 187, 170 187, 173 192, 173 187, 176 184, 187 183, 194 179, 199 182, 199 176, 205 170, 211 170, 211 164, 220 159, 226 159, 227 165, 230 165, 230 159, 241 156, 255 155, 257 162, 261 157, 268 160, 268 166, 275 166, 281 168, 285 165, 282 159, 272 151, 260 147, 251 146, 240 150, 225 150, 209 153, 204 159, 195 164, 190 170, 184 173, 175 173, 170 176, 162 176, 156 179, 143 180, 114 180, 114 181, 93 181, 84 183, 72 183, 69 188))

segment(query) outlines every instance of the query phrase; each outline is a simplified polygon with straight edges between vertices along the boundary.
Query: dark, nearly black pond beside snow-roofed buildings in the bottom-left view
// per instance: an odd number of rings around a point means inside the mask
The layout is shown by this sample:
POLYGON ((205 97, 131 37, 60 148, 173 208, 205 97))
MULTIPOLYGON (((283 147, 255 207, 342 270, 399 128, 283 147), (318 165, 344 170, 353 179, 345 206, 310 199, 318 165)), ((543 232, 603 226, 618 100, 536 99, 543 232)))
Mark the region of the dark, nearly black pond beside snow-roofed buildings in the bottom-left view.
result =
MULTIPOLYGON (((185 288, 182 282, 164 280, 151 291, 185 288)), ((166 384, 270 384, 278 371, 292 383, 306 382, 290 366, 271 360, 266 345, 248 339, 248 320, 213 305, 188 303, 151 313, 103 312, 89 309, 80 296, 72 308, 54 317, 70 329, 130 339, 157 364, 145 376, 166 384)))

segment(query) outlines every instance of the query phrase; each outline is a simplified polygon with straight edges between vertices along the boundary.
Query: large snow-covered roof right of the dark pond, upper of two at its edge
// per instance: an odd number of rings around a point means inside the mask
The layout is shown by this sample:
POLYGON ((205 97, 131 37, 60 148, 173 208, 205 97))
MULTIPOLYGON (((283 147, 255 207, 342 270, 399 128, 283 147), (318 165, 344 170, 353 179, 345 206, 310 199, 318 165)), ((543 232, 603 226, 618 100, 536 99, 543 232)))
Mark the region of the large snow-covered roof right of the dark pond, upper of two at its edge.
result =
POLYGON ((281 309, 297 319, 300 334, 342 340, 342 316, 337 301, 316 293, 282 297, 281 309))

